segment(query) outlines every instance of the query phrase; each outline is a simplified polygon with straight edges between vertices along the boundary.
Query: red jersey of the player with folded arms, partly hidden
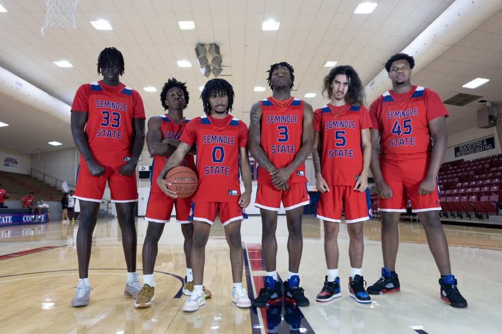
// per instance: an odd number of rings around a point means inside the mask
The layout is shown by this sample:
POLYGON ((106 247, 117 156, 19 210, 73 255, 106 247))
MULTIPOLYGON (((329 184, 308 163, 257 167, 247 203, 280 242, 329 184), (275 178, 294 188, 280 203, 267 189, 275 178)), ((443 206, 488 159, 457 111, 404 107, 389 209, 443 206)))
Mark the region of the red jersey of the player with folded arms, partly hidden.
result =
MULTIPOLYGON (((162 138, 164 139, 169 138, 179 140, 183 130, 185 130, 188 122, 190 121, 188 118, 183 117, 183 122, 181 122, 181 124, 176 124, 167 115, 161 115, 160 117, 162 118, 160 131, 162 131, 162 138)), ((152 173, 150 174, 150 192, 162 192, 155 180, 159 177, 162 168, 164 168, 168 160, 169 157, 159 155, 154 156, 154 160, 152 162, 152 173), (152 182, 152 180, 154 180, 154 182, 152 182)), ((181 161, 180 166, 185 166, 195 171, 195 161, 193 155, 185 155, 185 158, 181 161)))

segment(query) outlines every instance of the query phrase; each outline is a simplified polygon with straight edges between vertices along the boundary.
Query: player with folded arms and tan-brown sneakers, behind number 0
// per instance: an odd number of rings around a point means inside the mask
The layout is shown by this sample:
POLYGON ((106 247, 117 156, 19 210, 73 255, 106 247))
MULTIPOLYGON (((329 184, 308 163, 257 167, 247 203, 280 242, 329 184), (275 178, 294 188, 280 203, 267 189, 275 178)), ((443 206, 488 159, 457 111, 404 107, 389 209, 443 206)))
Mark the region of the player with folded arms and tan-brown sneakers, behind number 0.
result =
MULTIPOLYGON (((160 101, 164 110, 168 110, 167 114, 153 116, 148 120, 147 146, 150 154, 154 156, 151 177, 154 182, 150 182, 150 197, 148 198, 147 213, 145 215, 148 228, 143 243, 143 288, 135 300, 136 307, 149 307, 154 301, 154 267, 159 239, 165 223, 171 219, 173 206, 176 206, 176 222, 181 225, 181 232, 185 238, 183 250, 185 251, 187 269, 183 293, 190 295, 193 290, 190 260, 193 226, 188 220, 192 196, 177 199, 166 196, 155 182, 166 161, 169 160, 169 156, 178 147, 180 135, 188 124, 189 119, 183 116, 183 109, 186 109, 189 98, 185 83, 175 78, 169 79, 160 93, 160 101)), ((191 149, 183 158, 181 166, 195 170, 193 154, 195 154, 195 150, 191 149)), ((204 293, 206 298, 211 296, 209 290, 204 291, 204 293)))

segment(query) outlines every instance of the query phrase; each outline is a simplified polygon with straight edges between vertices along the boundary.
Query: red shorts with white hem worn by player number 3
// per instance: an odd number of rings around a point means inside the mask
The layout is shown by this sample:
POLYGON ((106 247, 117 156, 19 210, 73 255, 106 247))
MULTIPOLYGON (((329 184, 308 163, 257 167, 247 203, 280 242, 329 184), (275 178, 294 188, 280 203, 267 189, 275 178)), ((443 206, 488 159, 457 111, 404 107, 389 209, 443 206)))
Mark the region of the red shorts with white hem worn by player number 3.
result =
POLYGON ((284 209, 291 210, 310 204, 307 183, 290 183, 288 190, 277 190, 272 183, 261 183, 256 192, 255 206, 261 209, 279 211, 281 202, 284 209))

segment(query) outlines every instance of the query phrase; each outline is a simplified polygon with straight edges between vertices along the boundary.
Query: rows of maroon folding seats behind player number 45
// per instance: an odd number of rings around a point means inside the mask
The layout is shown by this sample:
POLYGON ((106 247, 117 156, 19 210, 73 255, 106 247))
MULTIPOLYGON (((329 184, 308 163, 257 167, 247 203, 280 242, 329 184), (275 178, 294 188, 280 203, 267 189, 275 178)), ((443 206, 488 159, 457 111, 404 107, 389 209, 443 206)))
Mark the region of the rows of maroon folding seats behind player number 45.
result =
MULTIPOLYGON (((502 208, 502 154, 445 162, 438 180, 443 217, 483 219, 502 208)), ((376 212, 376 193, 370 195, 370 201, 376 212)))

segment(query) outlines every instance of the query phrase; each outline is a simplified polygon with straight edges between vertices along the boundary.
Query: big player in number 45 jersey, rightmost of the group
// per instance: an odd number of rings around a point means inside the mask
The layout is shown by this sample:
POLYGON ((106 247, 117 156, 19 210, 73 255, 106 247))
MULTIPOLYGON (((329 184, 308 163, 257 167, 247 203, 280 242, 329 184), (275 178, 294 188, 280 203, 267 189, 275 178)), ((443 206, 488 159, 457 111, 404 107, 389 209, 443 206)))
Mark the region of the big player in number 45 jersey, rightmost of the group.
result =
POLYGON ((367 292, 400 290, 395 272, 398 222, 401 212, 406 212, 409 196, 412 212, 417 213, 424 227, 441 274, 441 299, 454 307, 467 307, 451 274, 448 243, 438 214, 441 206, 437 173, 446 149, 448 112, 437 93, 411 84, 414 66, 415 60, 407 54, 392 56, 385 64, 392 90, 373 101, 369 108, 373 124, 371 171, 382 212, 384 267, 382 277, 367 292))

